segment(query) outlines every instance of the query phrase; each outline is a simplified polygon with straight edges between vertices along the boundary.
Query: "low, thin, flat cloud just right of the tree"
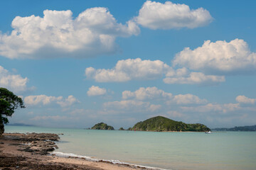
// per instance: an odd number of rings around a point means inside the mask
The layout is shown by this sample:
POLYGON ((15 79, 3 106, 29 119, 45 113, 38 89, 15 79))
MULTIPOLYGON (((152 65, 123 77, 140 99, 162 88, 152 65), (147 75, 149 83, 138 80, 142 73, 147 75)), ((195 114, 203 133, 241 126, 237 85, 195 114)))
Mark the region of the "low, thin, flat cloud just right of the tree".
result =
POLYGON ((63 98, 63 96, 46 96, 46 95, 38 95, 38 96, 26 96, 24 98, 24 102, 26 105, 37 106, 43 105, 46 106, 50 103, 58 103, 61 107, 71 106, 74 103, 78 103, 78 99, 74 96, 68 96, 68 98, 63 98))

